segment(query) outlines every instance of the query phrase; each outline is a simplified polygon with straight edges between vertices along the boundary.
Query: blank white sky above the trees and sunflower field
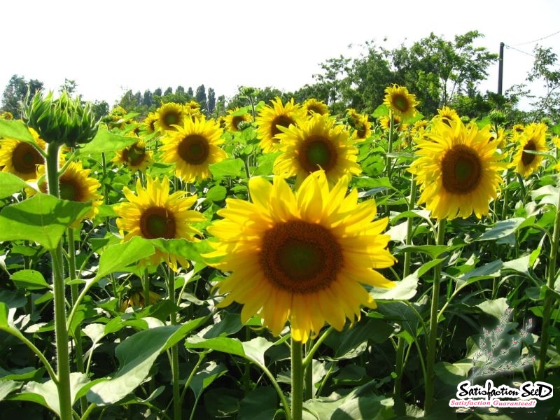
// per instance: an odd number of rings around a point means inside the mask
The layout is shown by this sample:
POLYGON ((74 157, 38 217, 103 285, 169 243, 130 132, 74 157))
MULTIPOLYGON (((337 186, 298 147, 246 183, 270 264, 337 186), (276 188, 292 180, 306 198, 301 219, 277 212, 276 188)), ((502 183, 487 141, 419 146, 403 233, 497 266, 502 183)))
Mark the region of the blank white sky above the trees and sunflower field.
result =
MULTIPOLYGON (((526 83, 536 43, 560 53, 558 0, 18 0, 0 15, 0 92, 14 74, 55 92, 68 78, 110 106, 127 90, 178 85, 226 99, 242 85, 295 91, 366 41, 391 50, 430 32, 451 41, 477 30, 475 45, 496 54, 505 43, 504 92, 526 83)), ((494 64, 480 88, 497 86, 494 64)))

